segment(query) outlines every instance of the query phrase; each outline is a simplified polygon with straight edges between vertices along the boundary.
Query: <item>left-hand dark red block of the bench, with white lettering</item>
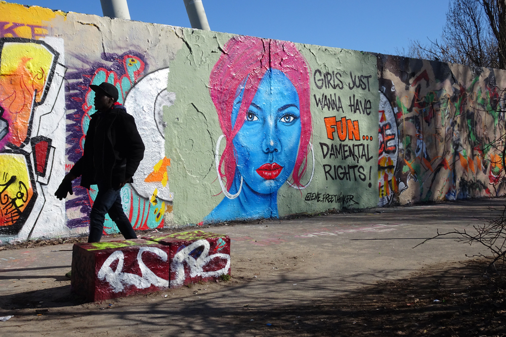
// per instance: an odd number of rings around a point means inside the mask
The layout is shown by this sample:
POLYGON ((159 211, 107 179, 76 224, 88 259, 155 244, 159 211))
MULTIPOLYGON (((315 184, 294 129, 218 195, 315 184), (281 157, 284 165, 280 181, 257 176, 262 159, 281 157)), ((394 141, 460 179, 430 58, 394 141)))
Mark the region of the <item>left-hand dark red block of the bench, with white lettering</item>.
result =
POLYGON ((170 246, 144 239, 75 244, 72 291, 94 302, 167 288, 170 255, 170 246))

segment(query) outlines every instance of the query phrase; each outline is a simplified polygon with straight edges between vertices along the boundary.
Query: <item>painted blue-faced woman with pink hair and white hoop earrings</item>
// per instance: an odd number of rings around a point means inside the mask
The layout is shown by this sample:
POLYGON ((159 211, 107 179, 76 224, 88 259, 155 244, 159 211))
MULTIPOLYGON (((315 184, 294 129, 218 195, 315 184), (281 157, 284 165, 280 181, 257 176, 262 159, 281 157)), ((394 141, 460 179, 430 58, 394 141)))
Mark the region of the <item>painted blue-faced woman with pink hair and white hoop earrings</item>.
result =
POLYGON ((309 74, 291 42, 250 36, 227 42, 209 76, 223 132, 215 159, 225 198, 204 223, 277 218, 278 189, 285 182, 297 189, 309 185, 314 173, 309 74))

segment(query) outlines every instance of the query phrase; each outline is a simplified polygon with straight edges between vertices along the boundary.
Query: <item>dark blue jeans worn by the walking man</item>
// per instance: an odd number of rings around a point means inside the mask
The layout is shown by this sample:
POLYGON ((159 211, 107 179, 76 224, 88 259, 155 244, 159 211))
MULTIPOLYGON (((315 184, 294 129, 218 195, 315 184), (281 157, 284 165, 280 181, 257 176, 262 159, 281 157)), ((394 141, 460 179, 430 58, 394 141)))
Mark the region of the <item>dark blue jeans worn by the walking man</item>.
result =
POLYGON ((102 232, 104 231, 105 214, 108 213, 112 221, 116 223, 119 231, 126 239, 137 238, 132 228, 132 224, 123 212, 121 206, 121 188, 114 190, 112 188, 100 188, 98 184, 98 194, 93 203, 90 212, 90 236, 88 242, 100 242, 102 232))

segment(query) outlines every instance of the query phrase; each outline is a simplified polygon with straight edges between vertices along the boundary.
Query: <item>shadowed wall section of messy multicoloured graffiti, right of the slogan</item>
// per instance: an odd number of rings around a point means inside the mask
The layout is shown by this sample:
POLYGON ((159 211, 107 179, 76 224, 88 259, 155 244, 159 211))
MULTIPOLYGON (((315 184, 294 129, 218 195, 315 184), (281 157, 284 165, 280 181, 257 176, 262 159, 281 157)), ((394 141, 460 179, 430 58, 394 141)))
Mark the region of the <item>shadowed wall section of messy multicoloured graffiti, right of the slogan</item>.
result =
POLYGON ((506 72, 378 55, 379 206, 495 197, 506 72))

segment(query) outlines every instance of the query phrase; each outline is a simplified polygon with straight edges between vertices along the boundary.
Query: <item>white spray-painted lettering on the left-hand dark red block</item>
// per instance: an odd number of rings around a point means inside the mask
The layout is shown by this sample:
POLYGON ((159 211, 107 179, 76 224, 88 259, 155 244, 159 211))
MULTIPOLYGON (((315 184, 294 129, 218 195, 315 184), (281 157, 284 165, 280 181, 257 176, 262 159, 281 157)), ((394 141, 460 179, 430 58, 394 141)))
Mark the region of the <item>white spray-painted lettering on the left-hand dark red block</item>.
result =
POLYGON ((123 291, 125 286, 134 285, 139 289, 145 289, 154 285, 156 287, 168 287, 168 280, 158 277, 142 261, 142 253, 151 252, 158 255, 163 262, 167 261, 167 253, 156 247, 142 247, 137 253, 137 263, 141 269, 142 277, 136 274, 123 273, 124 255, 122 251, 115 251, 104 261, 98 272, 98 278, 105 280, 112 287, 114 293, 123 291), (111 264, 118 260, 116 270, 113 271, 111 264))

